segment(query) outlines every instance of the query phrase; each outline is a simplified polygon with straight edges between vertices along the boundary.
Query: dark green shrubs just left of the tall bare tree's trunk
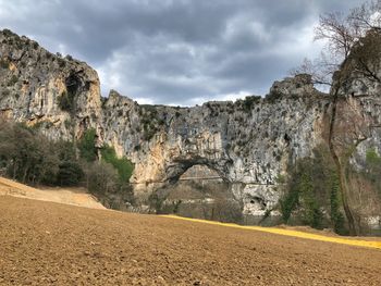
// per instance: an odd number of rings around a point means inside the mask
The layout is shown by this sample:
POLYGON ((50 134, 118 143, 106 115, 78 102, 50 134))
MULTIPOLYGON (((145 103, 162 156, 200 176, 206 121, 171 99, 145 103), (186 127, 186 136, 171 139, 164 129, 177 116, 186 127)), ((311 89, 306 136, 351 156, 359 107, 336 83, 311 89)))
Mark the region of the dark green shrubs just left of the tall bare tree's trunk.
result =
POLYGON ((331 221, 336 232, 344 228, 344 216, 339 200, 339 182, 333 179, 334 163, 327 148, 315 149, 312 158, 299 159, 288 166, 288 177, 282 177, 284 195, 280 200, 282 221, 288 223, 291 216, 303 224, 321 228, 331 221), (323 210, 331 209, 331 217, 323 210))

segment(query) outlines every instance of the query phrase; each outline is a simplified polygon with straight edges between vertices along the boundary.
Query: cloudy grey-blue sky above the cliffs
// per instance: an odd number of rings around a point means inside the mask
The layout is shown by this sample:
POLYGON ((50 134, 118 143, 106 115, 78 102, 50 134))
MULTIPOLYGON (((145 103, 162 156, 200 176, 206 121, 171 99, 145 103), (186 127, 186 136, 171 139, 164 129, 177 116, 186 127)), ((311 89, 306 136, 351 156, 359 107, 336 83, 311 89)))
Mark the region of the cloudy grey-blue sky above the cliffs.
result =
POLYGON ((102 96, 195 105, 265 96, 316 58, 319 14, 358 0, 0 0, 0 28, 86 61, 102 96))

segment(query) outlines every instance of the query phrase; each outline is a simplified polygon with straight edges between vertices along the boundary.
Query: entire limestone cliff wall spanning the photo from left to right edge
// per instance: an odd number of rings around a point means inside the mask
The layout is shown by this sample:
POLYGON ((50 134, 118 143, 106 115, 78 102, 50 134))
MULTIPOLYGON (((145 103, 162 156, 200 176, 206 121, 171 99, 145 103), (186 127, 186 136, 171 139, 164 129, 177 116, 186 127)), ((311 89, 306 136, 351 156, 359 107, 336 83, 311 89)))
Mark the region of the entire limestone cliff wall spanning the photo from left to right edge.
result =
MULTIPOLYGON (((275 82, 266 98, 139 105, 114 90, 101 98, 97 73, 84 62, 9 30, 0 42, 0 116, 38 126, 52 139, 81 138, 95 128, 99 146, 112 145, 134 162, 131 183, 142 202, 204 165, 228 184, 245 213, 263 214, 280 198, 275 187, 287 165, 312 156, 330 132, 331 97, 316 90, 308 75, 275 82)), ((380 87, 347 80, 340 92, 335 140, 366 136, 352 158, 360 167, 368 148, 381 150, 380 128, 371 127, 381 122, 380 87)))

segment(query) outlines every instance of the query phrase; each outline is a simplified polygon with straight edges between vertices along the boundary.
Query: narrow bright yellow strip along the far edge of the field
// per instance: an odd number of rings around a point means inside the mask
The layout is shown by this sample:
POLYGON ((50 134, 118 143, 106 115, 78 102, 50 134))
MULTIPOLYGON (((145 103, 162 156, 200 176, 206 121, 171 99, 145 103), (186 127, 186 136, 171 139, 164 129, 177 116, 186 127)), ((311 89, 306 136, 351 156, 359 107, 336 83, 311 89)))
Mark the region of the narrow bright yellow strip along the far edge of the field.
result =
POLYGON ((358 247, 369 247, 369 248, 381 249, 381 241, 351 239, 351 238, 344 238, 344 237, 331 237, 331 236, 310 234, 310 233, 292 231, 292 229, 276 228, 276 227, 247 226, 247 225, 238 225, 238 224, 233 224, 233 223, 220 223, 220 222, 198 220, 198 219, 181 217, 181 216, 176 216, 176 215, 161 215, 161 216, 176 219, 176 220, 184 220, 184 221, 189 221, 189 222, 220 225, 220 226, 233 227, 233 228, 239 228, 239 229, 257 231, 257 232, 265 232, 265 233, 271 233, 271 234, 278 234, 278 235, 314 239, 314 240, 320 240, 320 241, 325 241, 325 243, 334 243, 334 244, 342 244, 342 245, 348 245, 348 246, 358 246, 358 247))

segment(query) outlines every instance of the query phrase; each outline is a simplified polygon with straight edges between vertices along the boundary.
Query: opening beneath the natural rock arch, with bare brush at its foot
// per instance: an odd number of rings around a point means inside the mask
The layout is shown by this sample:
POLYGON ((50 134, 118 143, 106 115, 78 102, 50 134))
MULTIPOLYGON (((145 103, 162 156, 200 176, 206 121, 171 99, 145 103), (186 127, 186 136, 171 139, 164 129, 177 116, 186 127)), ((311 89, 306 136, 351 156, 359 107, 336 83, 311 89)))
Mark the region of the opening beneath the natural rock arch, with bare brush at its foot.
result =
POLYGON ((169 185, 160 190, 161 213, 238 223, 242 208, 230 183, 207 164, 182 164, 169 185))

